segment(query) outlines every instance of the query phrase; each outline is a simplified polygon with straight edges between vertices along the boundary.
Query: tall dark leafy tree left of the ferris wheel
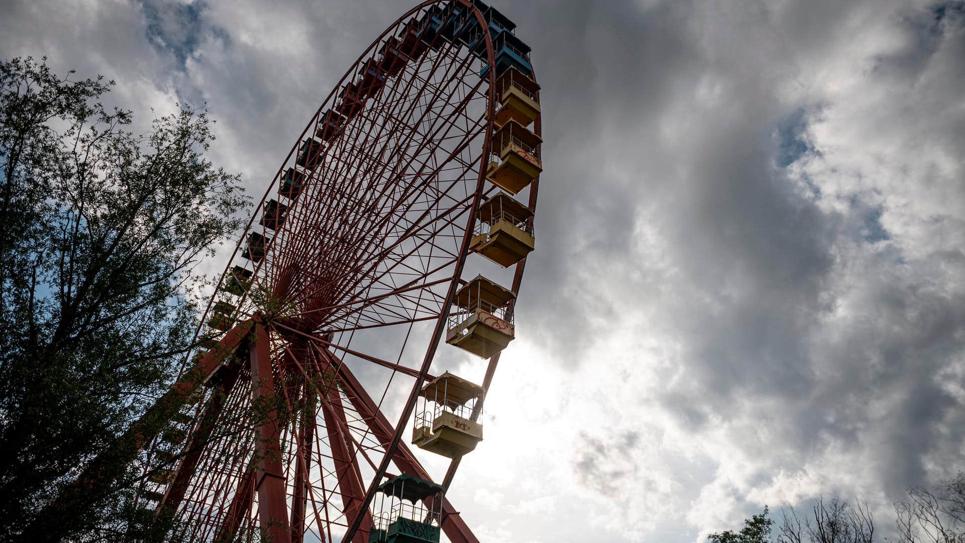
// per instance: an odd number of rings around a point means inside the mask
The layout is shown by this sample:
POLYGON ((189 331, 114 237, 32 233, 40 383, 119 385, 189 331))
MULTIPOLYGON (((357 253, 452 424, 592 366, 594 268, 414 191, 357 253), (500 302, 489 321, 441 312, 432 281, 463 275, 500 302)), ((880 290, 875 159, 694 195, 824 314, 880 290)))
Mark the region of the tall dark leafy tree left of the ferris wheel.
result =
POLYGON ((198 325, 195 268, 248 202, 205 157, 204 111, 135 135, 130 111, 97 101, 113 84, 59 78, 45 59, 0 63, 3 540, 54 523, 70 539, 122 538, 144 476, 129 466, 76 509, 37 512, 176 377, 198 325))

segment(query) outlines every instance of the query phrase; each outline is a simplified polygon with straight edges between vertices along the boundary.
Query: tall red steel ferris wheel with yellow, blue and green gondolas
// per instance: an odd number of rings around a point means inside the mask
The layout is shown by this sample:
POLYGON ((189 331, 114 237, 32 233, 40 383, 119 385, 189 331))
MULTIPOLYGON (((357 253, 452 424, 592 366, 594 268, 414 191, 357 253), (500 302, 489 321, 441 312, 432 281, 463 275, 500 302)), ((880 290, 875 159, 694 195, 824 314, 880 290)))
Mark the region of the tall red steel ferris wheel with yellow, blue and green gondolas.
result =
POLYGON ((322 102, 235 248, 171 422, 139 437, 139 500, 172 539, 478 541, 446 493, 483 439, 535 246, 529 53, 483 2, 427 1, 322 102), (449 371, 460 352, 478 384, 449 371))

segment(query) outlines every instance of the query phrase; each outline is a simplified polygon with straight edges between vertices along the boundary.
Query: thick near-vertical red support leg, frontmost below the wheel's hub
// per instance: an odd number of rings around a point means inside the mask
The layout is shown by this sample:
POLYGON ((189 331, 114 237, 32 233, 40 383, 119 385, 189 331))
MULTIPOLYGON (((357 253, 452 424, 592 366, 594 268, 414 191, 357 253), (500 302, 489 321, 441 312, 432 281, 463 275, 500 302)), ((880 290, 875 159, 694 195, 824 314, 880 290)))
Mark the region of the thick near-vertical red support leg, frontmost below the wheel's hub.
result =
POLYGON ((252 402, 262 406, 261 437, 256 448, 261 460, 256 472, 258 516, 262 529, 274 543, 290 543, 288 505, 285 495, 285 472, 279 446, 278 410, 274 406, 275 383, 271 372, 271 349, 268 332, 261 323, 255 325, 255 341, 249 348, 251 357, 252 402))

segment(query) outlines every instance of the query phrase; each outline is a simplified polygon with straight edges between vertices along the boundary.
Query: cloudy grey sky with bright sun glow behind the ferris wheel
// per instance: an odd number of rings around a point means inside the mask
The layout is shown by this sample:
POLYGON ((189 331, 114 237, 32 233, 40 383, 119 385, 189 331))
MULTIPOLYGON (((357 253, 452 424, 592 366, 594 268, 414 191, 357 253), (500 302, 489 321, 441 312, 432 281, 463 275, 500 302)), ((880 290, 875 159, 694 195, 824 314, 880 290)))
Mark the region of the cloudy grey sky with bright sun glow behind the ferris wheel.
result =
MULTIPOLYGON (((207 102, 261 194, 414 2, 4 0, 0 56, 207 102)), ((965 2, 493 4, 542 86, 537 250, 450 494, 482 541, 683 543, 965 470, 965 2), (957 278, 956 278, 957 277, 957 278)))

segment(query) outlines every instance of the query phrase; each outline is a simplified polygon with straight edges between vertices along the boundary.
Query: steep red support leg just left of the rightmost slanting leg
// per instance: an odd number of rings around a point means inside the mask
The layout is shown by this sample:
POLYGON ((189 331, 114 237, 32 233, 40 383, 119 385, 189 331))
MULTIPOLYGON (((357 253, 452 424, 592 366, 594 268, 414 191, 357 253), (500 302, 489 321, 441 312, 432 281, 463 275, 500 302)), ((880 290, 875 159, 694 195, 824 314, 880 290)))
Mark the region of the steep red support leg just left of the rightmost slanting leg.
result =
MULTIPOLYGON (((335 406, 342 408, 342 398, 339 397, 338 387, 332 386, 328 390, 327 396, 328 406, 322 407, 330 407, 330 409, 322 409, 322 413, 325 416, 328 441, 331 443, 332 460, 335 463, 335 473, 339 479, 339 489, 342 491, 345 518, 354 519, 361 509, 365 488, 362 486, 360 475, 352 468, 354 463, 351 460, 354 456, 349 448, 351 442, 345 439, 345 436, 341 433, 343 428, 348 427, 348 423, 345 420, 345 410, 335 409, 335 406)), ((372 513, 368 510, 363 513, 365 518, 362 520, 362 525, 352 538, 355 543, 366 543, 369 540, 372 513)))

